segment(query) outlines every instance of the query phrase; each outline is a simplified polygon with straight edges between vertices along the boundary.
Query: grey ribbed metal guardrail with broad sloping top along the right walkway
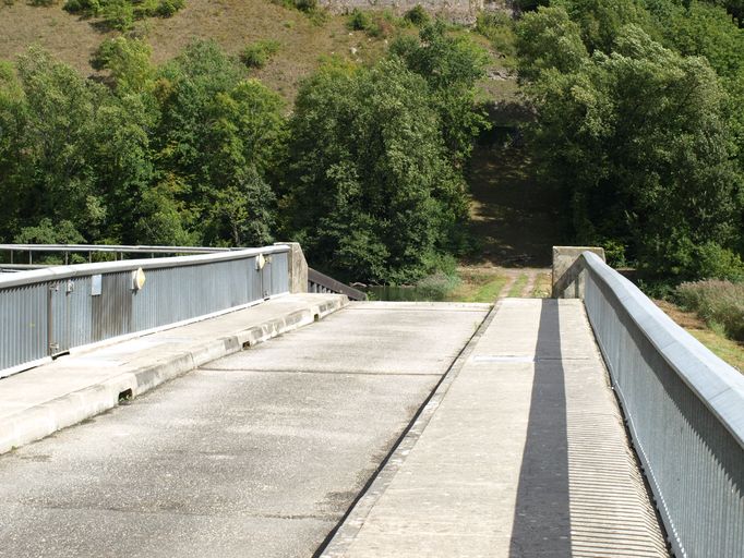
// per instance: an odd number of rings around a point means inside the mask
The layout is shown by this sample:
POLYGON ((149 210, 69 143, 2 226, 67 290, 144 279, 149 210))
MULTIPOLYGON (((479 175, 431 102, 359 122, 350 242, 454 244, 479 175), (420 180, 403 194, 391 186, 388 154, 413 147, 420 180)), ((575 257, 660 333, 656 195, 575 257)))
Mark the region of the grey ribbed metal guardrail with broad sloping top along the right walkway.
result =
POLYGON ((601 258, 574 264, 679 557, 744 556, 744 377, 601 258))

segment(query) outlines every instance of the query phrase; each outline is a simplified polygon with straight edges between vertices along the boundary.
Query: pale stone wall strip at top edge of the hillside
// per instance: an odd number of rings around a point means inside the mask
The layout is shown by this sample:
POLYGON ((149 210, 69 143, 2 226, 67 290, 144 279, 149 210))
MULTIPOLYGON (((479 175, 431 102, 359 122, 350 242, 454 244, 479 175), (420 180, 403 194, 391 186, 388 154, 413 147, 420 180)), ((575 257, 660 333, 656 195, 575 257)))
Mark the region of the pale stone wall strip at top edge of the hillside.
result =
POLYGON ((444 16, 457 23, 475 23, 481 10, 511 10, 508 0, 320 0, 322 5, 336 13, 360 10, 392 9, 403 14, 421 4, 428 12, 444 16))

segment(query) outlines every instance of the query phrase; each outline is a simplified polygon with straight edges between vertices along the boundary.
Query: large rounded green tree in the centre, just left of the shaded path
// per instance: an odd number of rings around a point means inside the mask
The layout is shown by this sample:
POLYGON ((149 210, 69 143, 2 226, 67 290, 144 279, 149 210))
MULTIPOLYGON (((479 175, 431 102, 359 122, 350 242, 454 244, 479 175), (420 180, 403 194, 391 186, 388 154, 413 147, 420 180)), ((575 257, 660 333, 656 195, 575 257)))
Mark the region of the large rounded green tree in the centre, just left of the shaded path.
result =
POLYGON ((467 215, 427 81, 393 58, 322 69, 290 123, 284 205, 313 262, 343 277, 410 282, 467 215))

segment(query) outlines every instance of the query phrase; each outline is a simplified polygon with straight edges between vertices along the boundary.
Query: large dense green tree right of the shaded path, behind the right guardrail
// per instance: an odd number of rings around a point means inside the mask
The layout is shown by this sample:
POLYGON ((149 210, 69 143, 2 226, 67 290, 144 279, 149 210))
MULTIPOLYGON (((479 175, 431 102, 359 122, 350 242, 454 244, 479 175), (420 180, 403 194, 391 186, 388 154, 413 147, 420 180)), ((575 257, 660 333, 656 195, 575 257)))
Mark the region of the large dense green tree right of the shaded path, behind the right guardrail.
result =
POLYGON ((521 57, 537 76, 531 137, 571 199, 577 240, 625 246, 655 280, 698 278, 701 262, 723 262, 741 235, 743 181, 727 97, 705 59, 636 26, 619 32, 610 56, 552 68, 542 62, 551 56, 521 57))

